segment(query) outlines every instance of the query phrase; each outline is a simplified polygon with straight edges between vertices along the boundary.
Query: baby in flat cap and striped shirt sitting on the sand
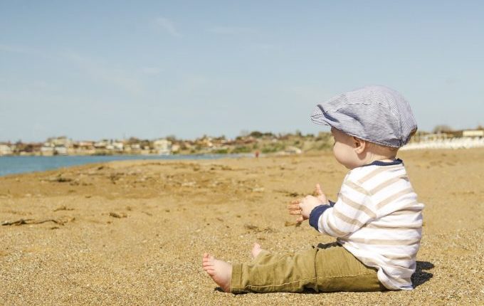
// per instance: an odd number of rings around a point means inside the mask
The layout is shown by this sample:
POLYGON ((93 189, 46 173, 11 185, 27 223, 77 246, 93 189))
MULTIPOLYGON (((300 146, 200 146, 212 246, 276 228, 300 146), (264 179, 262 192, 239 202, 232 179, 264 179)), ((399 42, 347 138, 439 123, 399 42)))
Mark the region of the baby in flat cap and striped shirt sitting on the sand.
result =
POLYGON ((333 153, 349 172, 336 202, 317 185, 318 195, 293 201, 289 213, 335 243, 283 254, 256 243, 251 263, 205 253, 204 270, 234 293, 411 290, 423 204, 396 158, 416 132, 409 103, 395 90, 369 86, 317 105, 311 119, 331 126, 333 153))

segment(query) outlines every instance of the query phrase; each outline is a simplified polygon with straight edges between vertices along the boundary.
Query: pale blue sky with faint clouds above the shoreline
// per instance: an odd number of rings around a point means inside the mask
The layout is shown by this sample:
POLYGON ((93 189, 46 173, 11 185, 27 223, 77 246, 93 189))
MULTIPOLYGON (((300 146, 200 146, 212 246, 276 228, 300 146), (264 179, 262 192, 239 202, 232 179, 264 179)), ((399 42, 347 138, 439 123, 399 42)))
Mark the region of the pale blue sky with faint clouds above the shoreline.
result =
POLYGON ((483 1, 0 0, 0 141, 317 132, 399 90, 421 130, 484 125, 483 1))

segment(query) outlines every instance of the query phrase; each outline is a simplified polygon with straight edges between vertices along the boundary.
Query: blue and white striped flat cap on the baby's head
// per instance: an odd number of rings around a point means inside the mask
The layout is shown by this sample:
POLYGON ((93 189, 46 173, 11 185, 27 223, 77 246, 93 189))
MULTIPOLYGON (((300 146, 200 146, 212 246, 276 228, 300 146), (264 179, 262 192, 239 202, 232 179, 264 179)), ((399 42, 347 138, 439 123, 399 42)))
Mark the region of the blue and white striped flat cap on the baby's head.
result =
POLYGON ((409 142, 417 125, 409 102, 391 88, 372 85, 318 104, 312 122, 388 147, 409 142))

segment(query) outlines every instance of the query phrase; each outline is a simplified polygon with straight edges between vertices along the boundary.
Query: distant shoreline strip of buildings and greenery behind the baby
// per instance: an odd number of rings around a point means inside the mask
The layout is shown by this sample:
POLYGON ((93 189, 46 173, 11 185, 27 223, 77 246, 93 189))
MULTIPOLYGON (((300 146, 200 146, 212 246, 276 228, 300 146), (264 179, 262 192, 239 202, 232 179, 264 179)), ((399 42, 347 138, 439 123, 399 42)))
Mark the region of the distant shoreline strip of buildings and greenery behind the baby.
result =
MULTIPOLYGON (((169 154, 301 154, 311 150, 330 149, 333 139, 330 133, 273 134, 251 132, 228 139, 224 136, 197 139, 175 137, 155 140, 101 139, 98 141, 74 141, 65 136, 51 137, 46 142, 23 143, 0 142, 0 156, 5 155, 169 155, 169 154)), ((429 134, 417 132, 403 149, 484 147, 484 130, 448 130, 446 133, 429 134)))

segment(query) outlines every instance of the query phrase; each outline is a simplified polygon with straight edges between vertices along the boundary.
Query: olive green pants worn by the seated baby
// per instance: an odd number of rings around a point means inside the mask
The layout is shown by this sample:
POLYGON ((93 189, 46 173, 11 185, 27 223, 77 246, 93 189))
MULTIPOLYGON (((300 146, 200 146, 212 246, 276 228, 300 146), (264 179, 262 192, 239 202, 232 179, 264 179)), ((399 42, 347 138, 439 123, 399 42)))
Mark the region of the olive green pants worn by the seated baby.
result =
POLYGON ((362 264, 338 243, 298 253, 263 250, 251 263, 232 265, 231 291, 238 292, 384 291, 377 269, 362 264))

